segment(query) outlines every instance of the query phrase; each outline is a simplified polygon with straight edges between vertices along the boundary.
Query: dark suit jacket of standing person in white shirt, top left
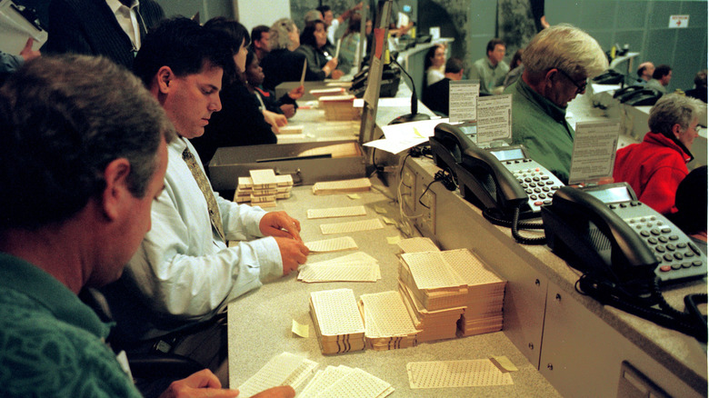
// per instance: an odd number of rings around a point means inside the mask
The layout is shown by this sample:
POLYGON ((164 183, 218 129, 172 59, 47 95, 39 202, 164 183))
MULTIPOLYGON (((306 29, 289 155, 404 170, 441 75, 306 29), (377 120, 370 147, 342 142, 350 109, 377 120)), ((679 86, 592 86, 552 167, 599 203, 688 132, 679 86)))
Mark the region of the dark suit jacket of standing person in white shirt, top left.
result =
MULTIPOLYGON (((141 0, 138 13, 141 38, 165 18, 154 0, 141 0)), ((45 54, 104 55, 118 65, 133 67, 133 44, 105 0, 52 0, 47 33, 45 54)))

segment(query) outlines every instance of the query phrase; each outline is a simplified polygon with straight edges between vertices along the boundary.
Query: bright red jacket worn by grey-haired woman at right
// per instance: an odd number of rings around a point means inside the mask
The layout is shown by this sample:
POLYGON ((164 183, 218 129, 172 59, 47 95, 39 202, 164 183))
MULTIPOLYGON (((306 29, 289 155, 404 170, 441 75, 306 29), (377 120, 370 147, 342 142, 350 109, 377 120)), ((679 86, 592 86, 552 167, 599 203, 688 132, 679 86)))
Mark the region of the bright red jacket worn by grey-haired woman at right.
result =
POLYGON ((640 202, 662 214, 676 212, 674 194, 689 174, 691 159, 663 134, 647 133, 640 144, 621 148, 615 154, 613 178, 633 187, 640 202))

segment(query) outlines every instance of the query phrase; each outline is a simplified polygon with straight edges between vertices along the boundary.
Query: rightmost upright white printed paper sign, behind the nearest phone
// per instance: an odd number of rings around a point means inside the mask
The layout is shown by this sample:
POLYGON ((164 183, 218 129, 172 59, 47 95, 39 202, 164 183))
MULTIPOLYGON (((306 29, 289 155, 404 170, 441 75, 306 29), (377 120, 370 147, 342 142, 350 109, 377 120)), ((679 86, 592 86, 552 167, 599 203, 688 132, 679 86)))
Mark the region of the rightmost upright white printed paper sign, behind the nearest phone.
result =
POLYGON ((620 122, 579 122, 574 136, 569 184, 597 183, 613 175, 620 122))

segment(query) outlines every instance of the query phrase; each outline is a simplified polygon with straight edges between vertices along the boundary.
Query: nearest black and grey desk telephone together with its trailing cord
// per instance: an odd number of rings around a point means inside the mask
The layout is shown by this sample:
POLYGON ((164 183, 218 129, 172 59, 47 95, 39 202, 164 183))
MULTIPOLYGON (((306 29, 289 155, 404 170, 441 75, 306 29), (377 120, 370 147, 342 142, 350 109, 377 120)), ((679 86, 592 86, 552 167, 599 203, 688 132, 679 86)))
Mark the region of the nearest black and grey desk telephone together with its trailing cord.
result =
POLYGON ((626 183, 564 186, 542 207, 546 242, 584 274, 576 289, 600 303, 707 340, 706 315, 684 297, 686 311, 664 300, 660 284, 702 278, 706 255, 674 224, 637 201, 626 183))

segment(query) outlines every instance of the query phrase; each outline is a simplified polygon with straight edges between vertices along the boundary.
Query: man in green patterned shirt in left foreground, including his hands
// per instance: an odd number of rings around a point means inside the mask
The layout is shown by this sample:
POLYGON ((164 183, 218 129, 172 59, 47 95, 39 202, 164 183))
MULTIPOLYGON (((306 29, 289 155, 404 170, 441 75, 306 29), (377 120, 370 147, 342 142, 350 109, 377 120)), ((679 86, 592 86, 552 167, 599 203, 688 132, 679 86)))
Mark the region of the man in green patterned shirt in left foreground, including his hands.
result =
MULTIPOLYGON (((140 397, 77 294, 115 281, 150 229, 172 124, 134 75, 85 55, 28 62, 0 104, 0 186, 27 193, 0 195, 0 395, 140 397)), ((161 396, 238 394, 221 387, 205 369, 161 396)))

